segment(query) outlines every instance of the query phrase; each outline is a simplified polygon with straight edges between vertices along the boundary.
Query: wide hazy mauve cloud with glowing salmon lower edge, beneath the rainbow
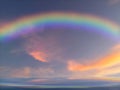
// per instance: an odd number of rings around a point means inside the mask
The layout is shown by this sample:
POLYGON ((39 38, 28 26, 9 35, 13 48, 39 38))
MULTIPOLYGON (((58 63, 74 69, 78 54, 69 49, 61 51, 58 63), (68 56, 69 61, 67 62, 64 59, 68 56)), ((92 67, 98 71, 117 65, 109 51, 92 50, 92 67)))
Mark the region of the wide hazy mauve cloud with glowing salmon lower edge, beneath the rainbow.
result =
POLYGON ((41 62, 58 59, 61 55, 61 48, 56 38, 50 35, 42 37, 32 34, 26 37, 24 48, 30 56, 41 62))

